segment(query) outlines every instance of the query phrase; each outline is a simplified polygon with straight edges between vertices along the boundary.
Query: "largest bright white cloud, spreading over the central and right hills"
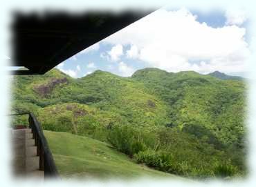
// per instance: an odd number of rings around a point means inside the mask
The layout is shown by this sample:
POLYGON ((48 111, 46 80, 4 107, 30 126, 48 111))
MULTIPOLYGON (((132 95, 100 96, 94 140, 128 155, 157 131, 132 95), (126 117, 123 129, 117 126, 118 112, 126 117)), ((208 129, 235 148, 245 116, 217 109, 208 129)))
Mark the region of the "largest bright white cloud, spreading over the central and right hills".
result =
POLYGON ((147 66, 167 71, 241 72, 246 71, 250 54, 245 34, 245 28, 235 25, 212 28, 199 23, 185 9, 158 10, 102 42, 136 46, 127 51, 129 57, 137 56, 147 66))

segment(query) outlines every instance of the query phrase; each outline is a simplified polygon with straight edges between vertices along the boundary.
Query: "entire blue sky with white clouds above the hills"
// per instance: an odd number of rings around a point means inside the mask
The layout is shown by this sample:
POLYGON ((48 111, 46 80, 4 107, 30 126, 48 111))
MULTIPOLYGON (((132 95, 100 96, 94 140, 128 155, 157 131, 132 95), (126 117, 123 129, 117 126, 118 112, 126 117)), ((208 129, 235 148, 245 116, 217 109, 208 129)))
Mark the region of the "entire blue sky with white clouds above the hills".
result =
POLYGON ((241 10, 157 10, 57 68, 74 78, 95 70, 129 77, 147 67, 244 76, 250 54, 246 19, 241 10))

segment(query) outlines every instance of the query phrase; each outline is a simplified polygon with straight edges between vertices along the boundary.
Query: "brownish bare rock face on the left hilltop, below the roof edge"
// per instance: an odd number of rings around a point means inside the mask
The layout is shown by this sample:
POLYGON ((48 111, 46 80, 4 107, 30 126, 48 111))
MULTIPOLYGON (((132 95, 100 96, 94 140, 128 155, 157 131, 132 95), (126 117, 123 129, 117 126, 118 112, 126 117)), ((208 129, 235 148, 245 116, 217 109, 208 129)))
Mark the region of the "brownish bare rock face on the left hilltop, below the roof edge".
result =
POLYGON ((42 84, 39 86, 36 86, 34 88, 35 92, 37 92, 41 97, 48 97, 48 95, 51 95, 51 92, 53 90, 53 88, 55 88, 55 86, 61 84, 61 83, 68 83, 68 79, 66 79, 66 77, 62 78, 62 79, 51 79, 51 81, 49 81, 46 84, 42 84))

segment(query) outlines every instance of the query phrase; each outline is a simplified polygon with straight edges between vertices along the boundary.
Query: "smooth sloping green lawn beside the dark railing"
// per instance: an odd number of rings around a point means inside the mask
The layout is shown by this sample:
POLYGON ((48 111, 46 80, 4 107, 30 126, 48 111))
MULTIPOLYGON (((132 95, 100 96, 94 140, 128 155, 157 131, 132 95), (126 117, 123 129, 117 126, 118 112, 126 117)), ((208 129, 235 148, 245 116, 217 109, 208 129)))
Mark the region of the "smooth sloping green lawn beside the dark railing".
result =
POLYGON ((68 132, 44 130, 55 164, 64 178, 176 177, 136 164, 102 141, 68 132))

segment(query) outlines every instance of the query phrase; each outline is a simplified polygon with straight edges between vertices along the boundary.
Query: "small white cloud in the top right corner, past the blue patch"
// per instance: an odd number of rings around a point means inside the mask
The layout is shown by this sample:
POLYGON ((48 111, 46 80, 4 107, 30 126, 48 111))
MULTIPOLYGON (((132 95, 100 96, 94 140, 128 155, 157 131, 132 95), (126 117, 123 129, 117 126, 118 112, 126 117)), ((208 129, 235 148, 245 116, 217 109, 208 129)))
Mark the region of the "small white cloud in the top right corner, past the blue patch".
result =
POLYGON ((226 25, 241 26, 247 19, 246 12, 242 10, 227 10, 225 16, 226 25))

